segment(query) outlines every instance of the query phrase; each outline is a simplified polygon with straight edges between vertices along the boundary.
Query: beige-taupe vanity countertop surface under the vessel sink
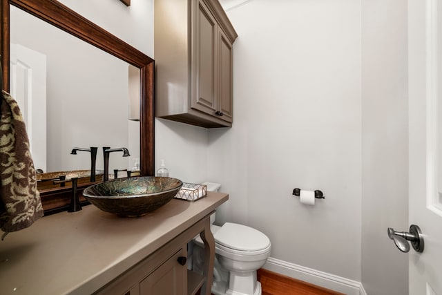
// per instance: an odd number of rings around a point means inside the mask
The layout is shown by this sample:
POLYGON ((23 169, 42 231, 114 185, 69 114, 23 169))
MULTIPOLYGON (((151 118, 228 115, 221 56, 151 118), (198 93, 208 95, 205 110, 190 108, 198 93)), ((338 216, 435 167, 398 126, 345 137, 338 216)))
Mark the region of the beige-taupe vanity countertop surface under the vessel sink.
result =
POLYGON ((93 205, 40 218, 0 241, 0 294, 91 294, 226 202, 208 192, 140 218, 93 205))

